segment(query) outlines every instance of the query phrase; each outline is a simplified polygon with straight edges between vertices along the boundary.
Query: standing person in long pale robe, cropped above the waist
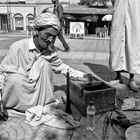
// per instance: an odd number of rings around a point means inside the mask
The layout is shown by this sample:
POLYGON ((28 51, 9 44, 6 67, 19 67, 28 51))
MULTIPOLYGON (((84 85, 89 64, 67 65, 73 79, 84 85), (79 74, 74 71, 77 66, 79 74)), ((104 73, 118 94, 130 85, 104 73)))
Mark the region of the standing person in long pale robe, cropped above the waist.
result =
POLYGON ((110 62, 116 80, 123 83, 121 73, 129 73, 128 87, 138 91, 134 74, 140 74, 140 0, 112 0, 114 6, 110 62))

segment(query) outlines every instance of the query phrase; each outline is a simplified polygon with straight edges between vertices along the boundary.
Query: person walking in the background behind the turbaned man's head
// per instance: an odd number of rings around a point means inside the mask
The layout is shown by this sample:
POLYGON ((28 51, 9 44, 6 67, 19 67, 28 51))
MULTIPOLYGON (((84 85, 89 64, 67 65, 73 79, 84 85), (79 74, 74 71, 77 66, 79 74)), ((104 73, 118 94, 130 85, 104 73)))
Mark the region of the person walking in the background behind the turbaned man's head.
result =
MULTIPOLYGON (((63 30, 62 30, 62 27, 64 24, 63 23, 63 7, 62 7, 61 3, 59 3, 59 0, 52 0, 52 3, 54 4, 53 13, 55 15, 57 15, 57 17, 60 20, 60 24, 61 24, 61 29, 60 29, 60 32, 58 33, 58 38, 62 42, 63 47, 65 48, 64 51, 69 52, 70 47, 63 36, 63 30)), ((55 43, 55 40, 56 40, 56 38, 54 38, 54 40, 53 40, 54 43, 55 43)))

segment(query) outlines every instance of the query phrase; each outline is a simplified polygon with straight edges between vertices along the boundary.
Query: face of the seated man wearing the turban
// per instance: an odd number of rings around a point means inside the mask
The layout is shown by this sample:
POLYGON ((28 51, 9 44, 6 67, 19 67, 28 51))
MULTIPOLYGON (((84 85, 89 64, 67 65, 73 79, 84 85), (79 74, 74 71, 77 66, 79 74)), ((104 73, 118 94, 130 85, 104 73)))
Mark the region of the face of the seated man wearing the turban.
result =
POLYGON ((43 29, 38 32, 38 43, 41 49, 48 49, 49 45, 52 43, 53 38, 56 36, 53 34, 55 29, 43 29))

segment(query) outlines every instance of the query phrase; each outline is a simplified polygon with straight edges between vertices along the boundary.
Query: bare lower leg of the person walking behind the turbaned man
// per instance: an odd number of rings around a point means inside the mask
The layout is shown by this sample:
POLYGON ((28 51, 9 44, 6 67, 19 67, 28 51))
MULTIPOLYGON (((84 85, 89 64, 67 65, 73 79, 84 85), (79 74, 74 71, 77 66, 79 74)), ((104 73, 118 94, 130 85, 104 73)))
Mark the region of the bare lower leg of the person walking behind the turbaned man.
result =
POLYGON ((62 29, 60 30, 59 34, 58 34, 58 38, 59 40, 62 42, 63 44, 63 47, 65 48, 65 51, 69 51, 70 48, 69 48, 69 45, 68 43, 66 42, 64 36, 63 36, 63 32, 62 32, 62 29))

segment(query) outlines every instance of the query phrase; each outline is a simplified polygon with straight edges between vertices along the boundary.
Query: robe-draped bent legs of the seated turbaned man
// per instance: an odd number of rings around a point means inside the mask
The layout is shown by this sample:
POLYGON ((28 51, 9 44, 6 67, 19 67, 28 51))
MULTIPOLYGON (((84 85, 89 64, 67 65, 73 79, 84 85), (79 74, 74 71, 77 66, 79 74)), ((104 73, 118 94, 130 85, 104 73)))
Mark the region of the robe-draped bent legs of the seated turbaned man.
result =
POLYGON ((53 72, 49 62, 43 63, 39 78, 35 81, 21 74, 8 74, 5 78, 2 101, 7 109, 19 112, 25 112, 33 106, 55 102, 53 72))

